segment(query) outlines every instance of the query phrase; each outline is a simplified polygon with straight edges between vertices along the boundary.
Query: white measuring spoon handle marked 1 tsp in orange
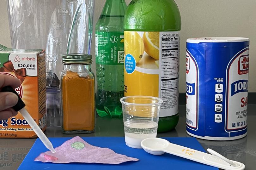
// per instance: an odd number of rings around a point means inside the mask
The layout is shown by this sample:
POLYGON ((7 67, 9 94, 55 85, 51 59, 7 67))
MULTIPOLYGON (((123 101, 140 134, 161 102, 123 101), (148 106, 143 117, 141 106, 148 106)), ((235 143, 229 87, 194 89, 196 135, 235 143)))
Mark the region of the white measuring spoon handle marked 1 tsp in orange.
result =
POLYGON ((164 148, 162 151, 172 155, 190 159, 192 161, 197 161, 206 165, 210 165, 213 167, 222 168, 225 170, 243 170, 245 168, 245 165, 242 164, 241 162, 232 161, 235 163, 235 165, 237 165, 237 166, 232 166, 218 156, 214 156, 208 153, 204 153, 204 152, 187 148, 184 146, 180 146, 177 144, 169 143, 169 145, 166 148, 164 148))

